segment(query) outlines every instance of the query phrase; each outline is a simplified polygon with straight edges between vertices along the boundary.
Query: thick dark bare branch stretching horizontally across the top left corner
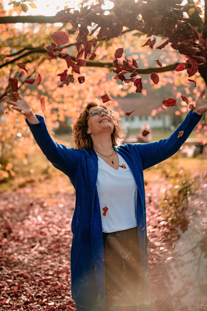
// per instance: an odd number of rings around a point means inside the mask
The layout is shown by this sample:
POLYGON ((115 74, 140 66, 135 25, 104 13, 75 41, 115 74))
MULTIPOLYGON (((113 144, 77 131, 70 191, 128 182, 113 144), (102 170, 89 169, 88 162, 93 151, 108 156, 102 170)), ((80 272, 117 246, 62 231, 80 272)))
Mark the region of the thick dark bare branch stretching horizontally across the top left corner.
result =
POLYGON ((54 23, 56 16, 1 16, 0 24, 15 24, 15 23, 54 23))

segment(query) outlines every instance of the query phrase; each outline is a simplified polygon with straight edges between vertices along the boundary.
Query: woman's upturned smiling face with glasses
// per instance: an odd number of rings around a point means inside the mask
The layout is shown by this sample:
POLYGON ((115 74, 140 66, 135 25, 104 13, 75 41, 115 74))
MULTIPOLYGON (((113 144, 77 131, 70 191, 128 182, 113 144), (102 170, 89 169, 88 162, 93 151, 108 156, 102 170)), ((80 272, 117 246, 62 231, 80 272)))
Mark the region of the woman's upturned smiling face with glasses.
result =
POLYGON ((87 133, 91 132, 91 134, 97 134, 101 133, 103 131, 109 131, 110 134, 113 132, 114 124, 113 124, 113 118, 111 115, 106 114, 104 112, 103 107, 95 106, 91 107, 89 111, 89 119, 88 119, 88 128, 87 133), (92 111, 99 110, 101 111, 101 114, 99 116, 94 116, 91 114, 92 111), (104 120, 104 121, 103 121, 104 120))

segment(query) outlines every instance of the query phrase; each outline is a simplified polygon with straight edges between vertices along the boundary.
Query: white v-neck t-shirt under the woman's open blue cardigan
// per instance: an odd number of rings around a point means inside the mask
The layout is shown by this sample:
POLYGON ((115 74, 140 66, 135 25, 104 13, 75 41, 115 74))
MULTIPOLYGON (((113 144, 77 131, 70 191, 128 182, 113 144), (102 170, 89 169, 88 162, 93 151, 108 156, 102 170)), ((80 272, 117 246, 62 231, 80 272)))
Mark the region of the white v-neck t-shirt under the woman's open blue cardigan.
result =
POLYGON ((137 226, 137 185, 126 161, 117 153, 119 166, 113 169, 98 156, 96 181, 103 232, 115 232, 137 226), (107 210, 107 208, 108 210, 107 210), (105 216, 104 216, 105 214, 105 216))

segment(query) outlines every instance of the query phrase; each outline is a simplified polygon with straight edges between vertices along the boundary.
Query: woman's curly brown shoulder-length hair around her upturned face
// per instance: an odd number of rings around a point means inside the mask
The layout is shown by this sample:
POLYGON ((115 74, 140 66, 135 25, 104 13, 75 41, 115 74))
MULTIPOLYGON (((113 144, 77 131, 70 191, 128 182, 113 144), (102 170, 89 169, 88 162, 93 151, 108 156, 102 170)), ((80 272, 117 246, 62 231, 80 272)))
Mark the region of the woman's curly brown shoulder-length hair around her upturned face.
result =
MULTIPOLYGON (((98 105, 95 102, 90 102, 87 104, 86 108, 83 110, 83 112, 80 113, 80 115, 74 119, 73 121, 73 142, 75 143, 75 149, 83 148, 85 150, 91 150, 93 149, 93 141, 90 137, 90 135, 87 134, 87 117, 89 116, 89 109, 91 107, 102 107, 104 109, 108 109, 105 105, 98 105)), ((112 109, 111 109, 112 110, 112 109)), ((112 110, 112 118, 114 122, 114 129, 111 134, 112 138, 112 146, 118 145, 118 140, 121 140, 126 137, 125 134, 123 134, 121 130, 121 126, 119 124, 119 121, 121 120, 120 114, 112 110)))

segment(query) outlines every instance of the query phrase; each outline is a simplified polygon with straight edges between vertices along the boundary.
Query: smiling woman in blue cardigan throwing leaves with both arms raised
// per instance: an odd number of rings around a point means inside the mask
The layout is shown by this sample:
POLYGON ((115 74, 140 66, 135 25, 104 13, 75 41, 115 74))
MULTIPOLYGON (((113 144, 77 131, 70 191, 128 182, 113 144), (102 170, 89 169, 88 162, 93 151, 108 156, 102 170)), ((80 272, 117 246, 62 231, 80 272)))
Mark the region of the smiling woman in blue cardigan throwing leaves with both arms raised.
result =
POLYGON ((207 111, 204 94, 168 139, 147 144, 117 146, 117 112, 89 103, 74 122, 75 149, 55 142, 44 117, 23 97, 7 101, 24 114, 47 159, 76 189, 71 292, 77 311, 152 310, 143 170, 179 150, 207 111))

